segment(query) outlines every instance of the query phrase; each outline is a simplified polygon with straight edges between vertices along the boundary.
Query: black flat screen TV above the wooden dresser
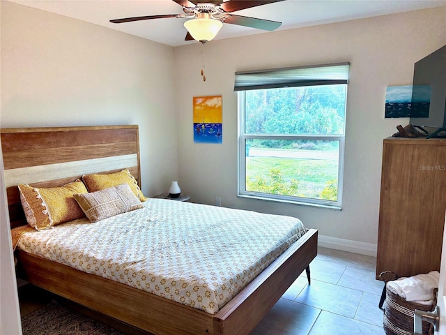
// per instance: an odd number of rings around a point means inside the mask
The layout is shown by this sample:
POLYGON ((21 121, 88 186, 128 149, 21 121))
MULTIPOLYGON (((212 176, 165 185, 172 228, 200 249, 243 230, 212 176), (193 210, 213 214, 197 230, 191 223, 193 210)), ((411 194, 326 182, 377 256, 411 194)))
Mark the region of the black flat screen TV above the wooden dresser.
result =
POLYGON ((415 63, 410 124, 426 137, 446 137, 446 45, 415 63))

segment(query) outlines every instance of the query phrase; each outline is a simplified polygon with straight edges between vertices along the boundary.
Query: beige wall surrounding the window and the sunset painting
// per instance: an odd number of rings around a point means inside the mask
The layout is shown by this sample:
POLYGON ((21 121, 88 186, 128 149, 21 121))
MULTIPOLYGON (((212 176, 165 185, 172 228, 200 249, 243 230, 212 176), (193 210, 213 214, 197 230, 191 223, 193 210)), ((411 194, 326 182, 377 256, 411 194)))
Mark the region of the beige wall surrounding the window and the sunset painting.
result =
MULTIPOLYGON (((177 47, 180 184, 192 200, 297 216, 335 243, 373 254, 378 234, 382 140, 408 119, 384 119, 385 89, 411 84, 413 64, 446 44, 446 7, 177 47), (237 198, 234 72, 349 61, 342 211, 237 198), (223 144, 194 144, 192 96, 222 94, 223 144), (337 240, 339 239, 339 240, 337 240), (344 241, 348 240, 348 241, 344 241)), ((410 195, 408 195, 410 196, 410 195)), ((325 239, 326 240, 326 239, 325 239)), ((324 239, 320 239, 324 241, 324 239)))

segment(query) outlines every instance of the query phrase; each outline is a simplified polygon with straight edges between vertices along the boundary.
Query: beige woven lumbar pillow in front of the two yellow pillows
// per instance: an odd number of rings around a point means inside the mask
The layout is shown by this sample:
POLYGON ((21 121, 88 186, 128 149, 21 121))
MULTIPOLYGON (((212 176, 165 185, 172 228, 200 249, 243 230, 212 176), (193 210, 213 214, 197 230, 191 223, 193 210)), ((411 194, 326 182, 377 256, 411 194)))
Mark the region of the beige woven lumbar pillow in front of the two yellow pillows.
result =
POLYGON ((128 184, 104 188, 91 193, 75 194, 75 200, 90 222, 97 222, 143 207, 128 184))

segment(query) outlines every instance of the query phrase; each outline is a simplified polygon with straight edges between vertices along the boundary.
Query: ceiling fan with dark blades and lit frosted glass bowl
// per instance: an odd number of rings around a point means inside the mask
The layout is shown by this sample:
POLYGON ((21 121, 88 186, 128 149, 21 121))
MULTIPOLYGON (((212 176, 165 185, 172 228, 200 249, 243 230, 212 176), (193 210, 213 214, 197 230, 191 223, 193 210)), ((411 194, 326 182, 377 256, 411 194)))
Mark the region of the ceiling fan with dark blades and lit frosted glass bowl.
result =
POLYGON ((198 40, 206 43, 217 35, 223 23, 238 24, 239 26, 252 27, 272 31, 280 27, 282 22, 258 19, 231 14, 237 10, 243 10, 256 6, 266 5, 284 0, 172 0, 183 6, 184 14, 150 15, 139 17, 125 17, 123 19, 110 20, 112 23, 124 23, 141 20, 162 19, 167 17, 185 17, 192 20, 185 22, 187 34, 185 40, 198 40))

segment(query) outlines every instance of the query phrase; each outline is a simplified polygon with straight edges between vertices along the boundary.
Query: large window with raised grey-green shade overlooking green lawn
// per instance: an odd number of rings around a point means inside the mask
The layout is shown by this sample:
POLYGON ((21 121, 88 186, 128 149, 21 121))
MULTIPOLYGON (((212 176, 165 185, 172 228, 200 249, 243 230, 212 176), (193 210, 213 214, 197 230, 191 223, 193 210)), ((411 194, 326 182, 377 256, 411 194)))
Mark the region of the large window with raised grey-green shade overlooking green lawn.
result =
POLYGON ((341 208, 348 64, 236 73, 238 195, 341 208))

